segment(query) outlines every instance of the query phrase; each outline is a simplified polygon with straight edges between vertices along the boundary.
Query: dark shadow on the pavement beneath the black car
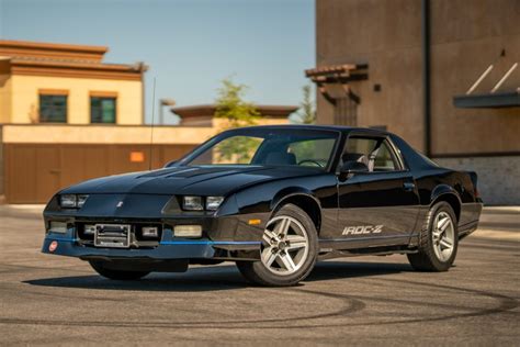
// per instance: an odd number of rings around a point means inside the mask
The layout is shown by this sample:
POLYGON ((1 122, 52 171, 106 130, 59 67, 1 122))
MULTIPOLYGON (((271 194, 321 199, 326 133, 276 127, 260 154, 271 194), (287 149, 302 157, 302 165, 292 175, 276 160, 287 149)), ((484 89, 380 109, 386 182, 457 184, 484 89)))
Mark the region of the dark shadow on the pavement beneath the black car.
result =
MULTIPOLYGON (((407 264, 323 261, 303 282, 382 276, 411 271, 407 264)), ((233 265, 197 267, 183 273, 155 272, 139 281, 101 276, 67 276, 23 281, 31 286, 133 291, 216 291, 250 287, 233 265)))

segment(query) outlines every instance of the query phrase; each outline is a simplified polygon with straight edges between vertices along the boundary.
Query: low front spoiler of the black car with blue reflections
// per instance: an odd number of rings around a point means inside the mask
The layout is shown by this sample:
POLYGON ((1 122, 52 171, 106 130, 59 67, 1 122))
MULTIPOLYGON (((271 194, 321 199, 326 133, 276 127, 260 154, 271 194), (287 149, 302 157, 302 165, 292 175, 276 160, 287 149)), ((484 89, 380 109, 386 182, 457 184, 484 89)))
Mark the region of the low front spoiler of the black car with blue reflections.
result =
POLYGON ((210 239, 160 242, 152 248, 98 248, 78 244, 75 238, 47 235, 42 253, 88 258, 117 259, 258 259, 259 242, 213 242, 210 239), (50 244, 57 247, 50 250, 50 244))

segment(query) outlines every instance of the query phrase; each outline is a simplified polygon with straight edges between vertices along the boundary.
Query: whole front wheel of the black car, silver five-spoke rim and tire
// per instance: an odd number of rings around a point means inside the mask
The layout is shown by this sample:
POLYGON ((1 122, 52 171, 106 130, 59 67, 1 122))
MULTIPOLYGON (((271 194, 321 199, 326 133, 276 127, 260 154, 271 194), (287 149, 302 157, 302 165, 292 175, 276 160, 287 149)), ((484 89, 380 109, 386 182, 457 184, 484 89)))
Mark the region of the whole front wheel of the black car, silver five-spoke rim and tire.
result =
POLYGON ((260 261, 237 261, 242 276, 261 286, 294 286, 316 264, 316 227, 302 209, 286 204, 268 222, 260 250, 260 261))

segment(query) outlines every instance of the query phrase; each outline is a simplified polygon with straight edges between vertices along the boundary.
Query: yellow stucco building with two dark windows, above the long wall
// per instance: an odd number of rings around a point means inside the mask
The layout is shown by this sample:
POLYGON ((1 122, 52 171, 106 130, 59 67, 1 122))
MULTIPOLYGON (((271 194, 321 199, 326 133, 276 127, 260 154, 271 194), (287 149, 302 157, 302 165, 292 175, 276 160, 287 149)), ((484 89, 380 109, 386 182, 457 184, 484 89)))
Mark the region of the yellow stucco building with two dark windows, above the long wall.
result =
POLYGON ((102 63, 106 52, 108 47, 0 41, 0 122, 143 124, 146 67, 102 63), (47 119, 46 109, 56 109, 58 102, 63 114, 47 119))

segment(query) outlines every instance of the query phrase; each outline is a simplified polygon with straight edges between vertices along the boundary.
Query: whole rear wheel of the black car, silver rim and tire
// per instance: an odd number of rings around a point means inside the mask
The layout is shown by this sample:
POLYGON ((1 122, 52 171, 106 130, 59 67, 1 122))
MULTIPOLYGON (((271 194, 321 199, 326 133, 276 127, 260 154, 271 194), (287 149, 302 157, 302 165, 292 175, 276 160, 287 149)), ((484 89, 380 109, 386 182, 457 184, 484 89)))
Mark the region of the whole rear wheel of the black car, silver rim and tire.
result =
POLYGON ((419 271, 448 271, 459 246, 456 224, 455 213, 448 202, 434 204, 420 235, 419 251, 408 255, 411 267, 419 271))

